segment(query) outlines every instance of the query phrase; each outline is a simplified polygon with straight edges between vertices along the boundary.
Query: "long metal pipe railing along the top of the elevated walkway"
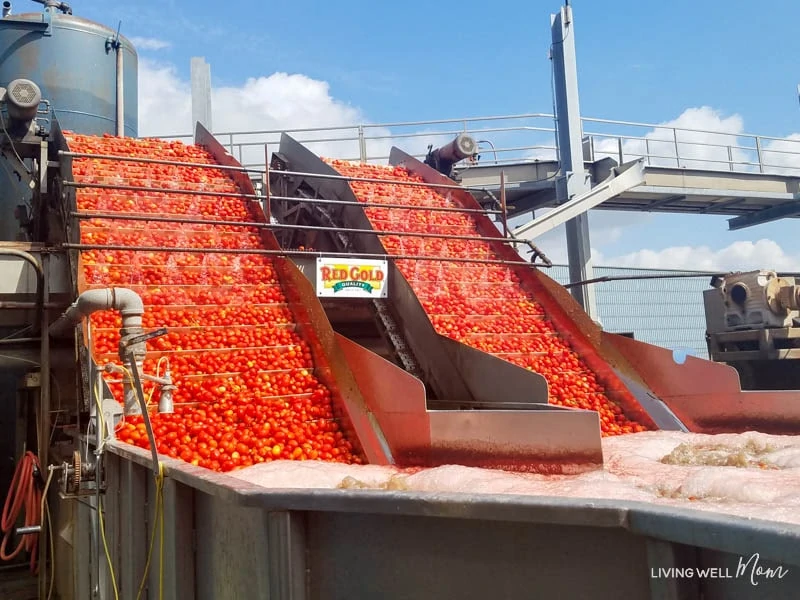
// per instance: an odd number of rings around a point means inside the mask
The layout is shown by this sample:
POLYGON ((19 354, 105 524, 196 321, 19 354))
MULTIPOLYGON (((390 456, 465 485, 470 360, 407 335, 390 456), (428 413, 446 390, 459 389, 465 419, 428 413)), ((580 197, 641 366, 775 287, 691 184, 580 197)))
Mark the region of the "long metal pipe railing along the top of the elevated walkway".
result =
MULTIPOLYGON (((771 173, 800 176, 800 137, 778 138, 735 131, 712 131, 608 119, 582 119, 584 158, 619 162, 643 159, 648 166, 771 173)), ((264 168, 287 133, 320 156, 385 163, 392 146, 424 158, 460 133, 478 141, 479 158, 461 168, 558 157, 553 115, 531 113, 433 121, 362 123, 330 127, 217 132, 217 139, 245 167, 264 168), (264 146, 267 153, 264 152, 264 146)), ((191 135, 158 136, 191 141, 191 135)))

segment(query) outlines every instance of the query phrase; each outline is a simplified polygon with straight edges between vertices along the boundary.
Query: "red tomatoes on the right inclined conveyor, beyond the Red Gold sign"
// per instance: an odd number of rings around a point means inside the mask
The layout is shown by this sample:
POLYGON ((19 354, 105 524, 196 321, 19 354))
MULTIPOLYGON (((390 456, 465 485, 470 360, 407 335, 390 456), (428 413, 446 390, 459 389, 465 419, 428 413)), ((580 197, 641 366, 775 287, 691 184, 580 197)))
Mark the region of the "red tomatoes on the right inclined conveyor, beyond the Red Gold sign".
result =
POLYGON ((401 185, 422 180, 400 167, 329 162, 344 176, 389 181, 351 182, 360 201, 416 209, 365 207, 365 213, 376 230, 403 233, 381 236, 387 253, 442 259, 397 261, 440 334, 540 373, 547 379, 552 404, 597 411, 603 435, 646 430, 611 401, 607 382, 600 381, 572 350, 542 306, 524 291, 511 266, 447 261, 500 257, 489 242, 478 239, 477 225, 467 213, 424 210, 459 207, 446 191, 401 185), (425 238, 415 233, 475 239, 425 238))

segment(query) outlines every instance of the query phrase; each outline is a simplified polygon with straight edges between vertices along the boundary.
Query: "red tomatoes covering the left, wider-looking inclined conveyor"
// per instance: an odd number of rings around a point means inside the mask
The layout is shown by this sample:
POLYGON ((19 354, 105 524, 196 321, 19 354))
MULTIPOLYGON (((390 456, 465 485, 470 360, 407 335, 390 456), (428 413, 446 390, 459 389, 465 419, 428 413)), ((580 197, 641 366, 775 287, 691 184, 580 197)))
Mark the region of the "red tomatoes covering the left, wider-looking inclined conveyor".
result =
MULTIPOLYGON (((203 149, 179 142, 68 139, 79 153, 214 164, 203 149)), ((82 183, 149 188, 79 188, 79 212, 263 220, 247 199, 227 195, 239 190, 217 168, 75 158, 73 175, 82 183)), ((151 375, 168 367, 177 386, 174 414, 151 416, 159 453, 215 471, 277 459, 361 462, 341 431, 330 390, 314 375, 309 341, 296 331, 272 259, 170 250, 258 250, 264 246, 257 228, 92 218, 81 221, 80 232, 84 244, 163 248, 81 253, 82 288, 131 288, 144 301, 144 327, 168 328, 148 342, 144 363, 151 375)), ((119 363, 120 315, 96 313, 91 323, 95 360, 119 363)), ((121 398, 119 376, 106 378, 121 398)), ((158 387, 146 384, 145 394, 155 408, 158 387)), ((117 437, 149 448, 141 417, 127 417, 117 437)))

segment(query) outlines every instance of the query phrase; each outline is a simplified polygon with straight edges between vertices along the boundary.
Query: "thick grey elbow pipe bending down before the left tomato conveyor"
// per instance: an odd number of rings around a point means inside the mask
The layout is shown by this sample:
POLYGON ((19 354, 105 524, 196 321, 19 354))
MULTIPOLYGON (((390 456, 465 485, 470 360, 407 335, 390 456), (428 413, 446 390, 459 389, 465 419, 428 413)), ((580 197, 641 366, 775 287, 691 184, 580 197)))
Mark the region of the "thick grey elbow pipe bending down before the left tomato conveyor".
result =
MULTIPOLYGON (((74 327, 81 320, 102 310, 117 310, 122 315, 120 360, 125 363, 127 356, 124 355, 122 344, 126 339, 141 335, 144 331, 142 329, 144 303, 139 294, 128 288, 105 288, 83 292, 66 312, 50 326, 49 333, 51 336, 63 335, 69 331, 70 327, 74 327)), ((136 368, 141 373, 147 351, 144 343, 133 345, 130 351, 133 352, 136 368)), ((136 397, 133 381, 129 381, 129 379, 123 379, 125 414, 141 414, 141 407, 136 397)))

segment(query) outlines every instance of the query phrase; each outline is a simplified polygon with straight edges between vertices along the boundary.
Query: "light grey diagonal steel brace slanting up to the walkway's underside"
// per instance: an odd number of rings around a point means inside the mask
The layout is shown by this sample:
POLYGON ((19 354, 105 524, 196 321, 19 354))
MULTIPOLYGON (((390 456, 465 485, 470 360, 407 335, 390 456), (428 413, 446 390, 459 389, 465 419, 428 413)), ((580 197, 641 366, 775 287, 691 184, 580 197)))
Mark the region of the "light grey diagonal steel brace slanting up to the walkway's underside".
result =
POLYGON ((566 204, 557 206, 546 215, 518 227, 512 232, 512 235, 523 240, 535 239, 565 222, 580 218, 587 211, 606 200, 624 194, 628 190, 644 183, 644 161, 638 160, 624 165, 623 168, 625 170, 619 175, 612 174, 611 177, 594 189, 576 196, 566 204))

